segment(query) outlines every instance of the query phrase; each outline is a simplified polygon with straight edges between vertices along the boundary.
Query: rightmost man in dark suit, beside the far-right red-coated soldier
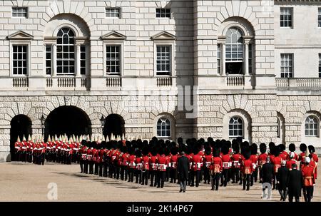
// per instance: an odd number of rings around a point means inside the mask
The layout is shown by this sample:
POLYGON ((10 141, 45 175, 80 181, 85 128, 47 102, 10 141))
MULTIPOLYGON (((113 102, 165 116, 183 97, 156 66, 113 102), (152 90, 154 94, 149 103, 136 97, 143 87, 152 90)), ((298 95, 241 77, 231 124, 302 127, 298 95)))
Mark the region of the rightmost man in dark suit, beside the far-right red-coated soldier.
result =
POLYGON ((289 172, 289 178, 287 178, 287 187, 289 188, 289 202, 293 201, 300 202, 301 191, 302 191, 302 173, 297 170, 297 165, 292 164, 292 170, 289 172))

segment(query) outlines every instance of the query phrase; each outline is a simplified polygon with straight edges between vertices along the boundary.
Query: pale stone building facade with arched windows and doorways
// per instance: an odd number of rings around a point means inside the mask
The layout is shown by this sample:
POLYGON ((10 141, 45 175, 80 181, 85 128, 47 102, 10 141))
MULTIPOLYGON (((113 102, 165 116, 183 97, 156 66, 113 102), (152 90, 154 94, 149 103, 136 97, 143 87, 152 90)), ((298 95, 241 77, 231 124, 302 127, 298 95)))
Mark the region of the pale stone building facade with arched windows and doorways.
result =
POLYGON ((23 134, 321 147, 320 26, 308 0, 0 1, 0 160, 23 134))

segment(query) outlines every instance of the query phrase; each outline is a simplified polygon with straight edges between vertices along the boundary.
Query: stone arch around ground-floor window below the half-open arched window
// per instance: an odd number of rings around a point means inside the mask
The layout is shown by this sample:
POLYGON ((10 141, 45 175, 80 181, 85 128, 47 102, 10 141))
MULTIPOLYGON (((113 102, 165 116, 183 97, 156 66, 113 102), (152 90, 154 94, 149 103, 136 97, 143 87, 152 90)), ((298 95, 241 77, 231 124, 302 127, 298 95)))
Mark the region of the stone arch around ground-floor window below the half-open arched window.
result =
POLYGON ((233 109, 223 117, 223 139, 229 140, 229 121, 234 116, 239 116, 243 120, 243 139, 249 143, 252 141, 252 118, 250 114, 242 109, 233 109))

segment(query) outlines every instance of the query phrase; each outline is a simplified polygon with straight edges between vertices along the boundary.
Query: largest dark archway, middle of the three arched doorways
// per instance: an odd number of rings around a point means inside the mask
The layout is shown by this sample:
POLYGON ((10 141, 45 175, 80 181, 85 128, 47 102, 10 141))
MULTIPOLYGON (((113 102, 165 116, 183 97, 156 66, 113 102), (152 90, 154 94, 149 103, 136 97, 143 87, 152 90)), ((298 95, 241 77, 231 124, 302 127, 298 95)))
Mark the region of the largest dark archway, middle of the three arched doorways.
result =
POLYGON ((60 106, 49 113, 45 122, 45 140, 48 135, 91 135, 91 120, 76 106, 60 106))

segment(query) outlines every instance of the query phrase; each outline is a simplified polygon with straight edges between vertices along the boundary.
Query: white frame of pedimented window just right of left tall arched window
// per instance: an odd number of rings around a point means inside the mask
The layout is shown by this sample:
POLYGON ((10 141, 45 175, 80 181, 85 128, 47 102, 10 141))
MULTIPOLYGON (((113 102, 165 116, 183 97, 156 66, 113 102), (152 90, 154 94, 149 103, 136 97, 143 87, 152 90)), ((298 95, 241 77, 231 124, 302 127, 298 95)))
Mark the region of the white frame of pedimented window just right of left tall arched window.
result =
POLYGON ((108 76, 123 76, 123 67, 124 67, 124 43, 123 41, 113 41, 113 40, 104 40, 103 41, 103 76, 108 77, 108 76), (116 73, 106 73, 106 46, 120 46, 120 52, 121 52, 121 58, 120 58, 120 73, 116 74, 116 73))

